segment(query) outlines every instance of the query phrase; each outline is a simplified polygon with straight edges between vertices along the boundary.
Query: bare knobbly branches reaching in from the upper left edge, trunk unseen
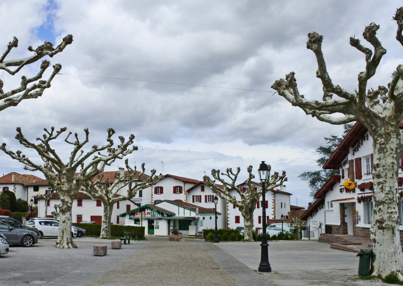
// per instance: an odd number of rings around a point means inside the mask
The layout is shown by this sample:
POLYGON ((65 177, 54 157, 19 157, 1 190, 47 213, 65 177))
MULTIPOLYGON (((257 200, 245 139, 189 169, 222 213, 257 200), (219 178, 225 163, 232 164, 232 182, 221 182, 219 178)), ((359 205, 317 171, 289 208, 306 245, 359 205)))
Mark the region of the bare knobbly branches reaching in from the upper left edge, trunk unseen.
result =
MULTIPOLYGON (((29 57, 21 58, 21 59, 5 60, 5 58, 10 53, 12 48, 16 48, 18 46, 18 39, 16 37, 14 37, 14 39, 7 45, 6 51, 0 57, 0 69, 6 70, 7 73, 14 76, 25 65, 34 63, 34 62, 38 61, 39 59, 41 59, 42 57, 44 57, 45 55, 53 57, 55 54, 63 51, 64 48, 67 45, 70 45, 71 43, 73 43, 73 36, 67 35, 63 38, 63 41, 58 46, 56 46, 56 48, 54 48, 50 42, 45 41, 45 43, 43 45, 38 46, 36 49, 32 48, 32 46, 29 46, 28 50, 31 52, 34 52, 34 54, 29 57), (14 70, 11 70, 10 67, 12 67, 12 66, 17 66, 17 68, 14 70)), ((53 80, 54 76, 58 72, 60 72, 61 64, 59 64, 59 63, 56 63, 53 65, 53 72, 47 81, 41 80, 39 82, 36 82, 42 78, 43 73, 49 67, 49 65, 50 65, 50 61, 48 61, 46 59, 43 60, 40 65, 39 73, 36 76, 34 76, 32 78, 27 78, 25 76, 22 76, 21 85, 8 92, 5 92, 3 90, 4 84, 3 84, 3 81, 0 80, 0 111, 4 110, 10 106, 17 106, 24 99, 38 98, 43 94, 45 89, 50 88, 50 82, 53 80), (34 83, 28 87, 28 85, 33 82, 36 82, 36 83, 34 83)))

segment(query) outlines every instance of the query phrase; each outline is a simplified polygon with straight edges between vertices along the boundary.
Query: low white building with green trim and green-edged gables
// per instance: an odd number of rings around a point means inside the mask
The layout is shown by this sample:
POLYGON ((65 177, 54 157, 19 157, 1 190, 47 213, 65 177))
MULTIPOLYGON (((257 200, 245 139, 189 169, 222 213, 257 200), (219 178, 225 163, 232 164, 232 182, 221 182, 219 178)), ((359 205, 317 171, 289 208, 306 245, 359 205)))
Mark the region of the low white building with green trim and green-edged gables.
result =
MULTIPOLYGON (((221 213, 217 213, 220 217, 221 213)), ((121 213, 125 224, 136 224, 145 227, 145 234, 170 235, 170 229, 177 228, 183 235, 194 235, 196 232, 215 227, 215 212, 195 204, 163 200, 156 204, 146 204, 136 209, 121 213), (198 213, 197 213, 198 212, 198 213), (144 221, 140 221, 140 213, 144 213, 144 221)))

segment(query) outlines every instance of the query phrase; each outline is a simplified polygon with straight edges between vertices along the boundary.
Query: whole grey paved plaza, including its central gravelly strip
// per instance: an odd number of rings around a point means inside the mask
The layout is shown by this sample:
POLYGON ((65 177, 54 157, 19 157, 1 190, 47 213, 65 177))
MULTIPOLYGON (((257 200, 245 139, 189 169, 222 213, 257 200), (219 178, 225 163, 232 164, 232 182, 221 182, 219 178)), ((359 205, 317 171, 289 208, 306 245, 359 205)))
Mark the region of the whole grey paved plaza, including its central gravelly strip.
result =
POLYGON ((78 249, 56 249, 53 239, 0 256, 1 285, 387 285, 359 280, 355 253, 317 241, 270 242, 272 273, 258 273, 258 242, 168 242, 167 238, 108 246, 109 240, 75 239, 78 249))

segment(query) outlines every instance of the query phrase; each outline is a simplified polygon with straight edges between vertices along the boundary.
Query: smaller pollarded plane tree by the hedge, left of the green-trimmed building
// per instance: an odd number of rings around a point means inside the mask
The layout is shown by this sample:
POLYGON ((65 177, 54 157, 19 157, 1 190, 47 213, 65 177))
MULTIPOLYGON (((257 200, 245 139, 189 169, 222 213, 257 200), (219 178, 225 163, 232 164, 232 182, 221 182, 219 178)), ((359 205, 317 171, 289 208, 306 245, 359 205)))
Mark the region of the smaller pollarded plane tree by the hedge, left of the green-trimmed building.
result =
POLYGON ((156 176, 156 170, 151 170, 151 175, 145 174, 145 164, 142 164, 142 171, 137 171, 137 167, 132 169, 128 165, 128 160, 125 160, 127 171, 123 174, 116 172, 113 180, 105 178, 103 180, 103 174, 98 174, 92 181, 86 181, 83 184, 83 189, 80 191, 89 195, 93 200, 102 201, 104 207, 104 213, 102 216, 101 235, 103 237, 111 237, 110 225, 112 219, 113 205, 118 201, 128 200, 136 196, 139 190, 147 189, 157 184, 163 176, 160 174, 156 176), (123 188, 127 191, 119 193, 123 188))

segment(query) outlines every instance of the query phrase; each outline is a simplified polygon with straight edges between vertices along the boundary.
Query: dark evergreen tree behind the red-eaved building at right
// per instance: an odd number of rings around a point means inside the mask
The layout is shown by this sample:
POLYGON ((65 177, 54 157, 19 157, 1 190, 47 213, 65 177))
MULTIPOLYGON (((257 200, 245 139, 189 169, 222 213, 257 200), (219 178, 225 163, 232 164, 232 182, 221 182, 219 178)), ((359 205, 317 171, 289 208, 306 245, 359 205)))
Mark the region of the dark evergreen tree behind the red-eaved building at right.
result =
POLYGON ((330 135, 329 137, 324 137, 326 141, 326 145, 319 146, 316 148, 316 153, 319 154, 319 159, 316 160, 317 165, 321 168, 317 171, 307 171, 303 172, 298 176, 303 181, 307 181, 309 187, 311 188, 311 197, 313 197, 316 192, 322 187, 327 180, 333 176, 339 174, 339 169, 322 169, 323 165, 330 158, 331 154, 333 154, 334 150, 341 144, 344 137, 346 137, 347 133, 354 126, 354 123, 344 124, 344 132, 342 136, 339 135, 330 135))

